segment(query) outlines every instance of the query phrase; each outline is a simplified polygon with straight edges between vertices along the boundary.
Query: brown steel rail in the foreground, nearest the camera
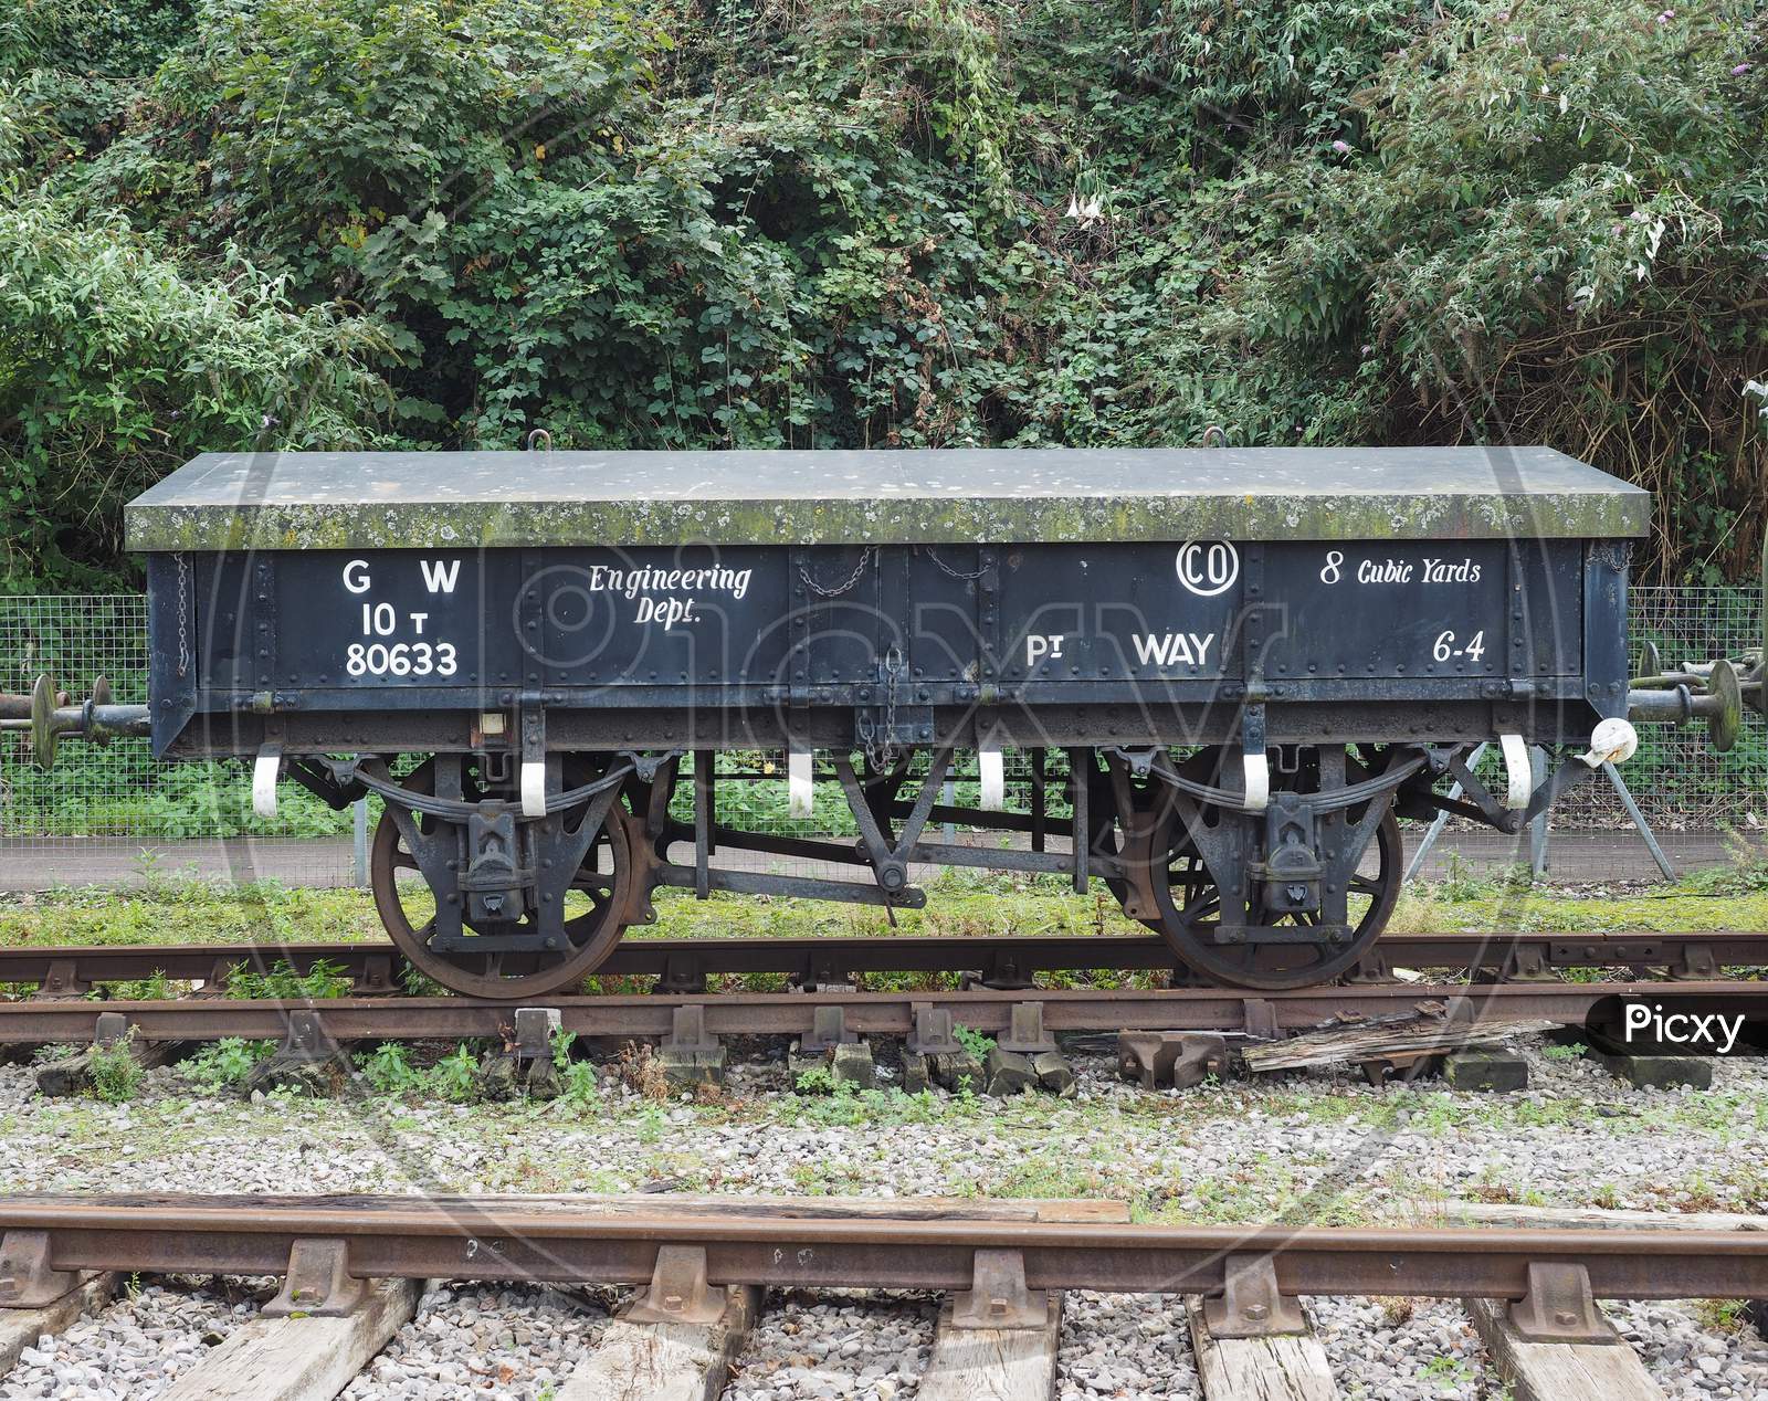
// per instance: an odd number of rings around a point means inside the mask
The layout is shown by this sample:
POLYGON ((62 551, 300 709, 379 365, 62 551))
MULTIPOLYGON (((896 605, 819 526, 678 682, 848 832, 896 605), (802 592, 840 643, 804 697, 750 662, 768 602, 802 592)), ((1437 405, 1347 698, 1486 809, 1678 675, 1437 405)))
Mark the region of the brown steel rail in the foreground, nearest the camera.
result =
POLYGON ((51 1270, 281 1274, 295 1242, 343 1242, 354 1277, 642 1284, 663 1245, 711 1284, 967 1290, 978 1251, 1015 1251, 1033 1290, 1216 1293, 1269 1258, 1284 1295, 1522 1298, 1529 1267, 1577 1265, 1598 1298, 1768 1295, 1768 1233, 1155 1226, 999 1217, 827 1217, 766 1206, 629 1210, 552 1199, 0 1198, 0 1254, 51 1270), (37 1235, 41 1233, 41 1236, 37 1235), (35 1240, 34 1240, 35 1238, 35 1240), (16 1249, 14 1249, 16 1244, 16 1249))

